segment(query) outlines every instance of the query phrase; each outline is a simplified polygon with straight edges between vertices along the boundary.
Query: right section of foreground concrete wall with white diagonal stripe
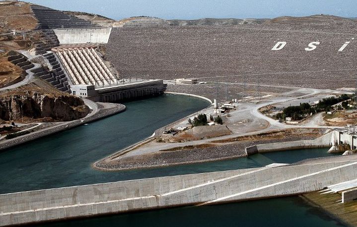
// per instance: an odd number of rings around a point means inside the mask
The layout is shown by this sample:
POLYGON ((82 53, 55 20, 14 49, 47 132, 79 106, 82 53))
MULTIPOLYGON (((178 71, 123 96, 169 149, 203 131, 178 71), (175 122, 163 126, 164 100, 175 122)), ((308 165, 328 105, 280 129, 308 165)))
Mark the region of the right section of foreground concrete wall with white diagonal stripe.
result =
MULTIPOLYGON (((338 183, 354 179, 354 177, 356 178, 357 173, 353 171, 344 171, 346 174, 340 175, 339 171, 331 173, 329 170, 339 166, 342 166, 342 164, 324 163, 253 170, 249 172, 249 174, 236 175, 221 181, 217 180, 207 185, 197 185, 189 190, 177 190, 168 194, 158 195, 159 205, 163 206, 165 204, 165 206, 173 206, 177 203, 207 204, 292 195, 322 189, 331 185, 331 181, 338 183), (302 182, 302 179, 306 178, 302 176, 318 171, 324 171, 321 173, 322 177, 316 178, 316 180, 314 180, 314 176, 307 177, 308 180, 306 180, 306 182, 310 182, 310 184, 300 184, 299 181, 294 181, 294 184, 289 184, 288 180, 290 179, 301 177, 302 182), (283 186, 279 190, 270 190, 270 188, 274 189, 276 186, 281 185, 283 186), (286 187, 285 190, 284 187, 286 187)), ((354 168, 357 168, 357 163, 354 164, 354 168)))

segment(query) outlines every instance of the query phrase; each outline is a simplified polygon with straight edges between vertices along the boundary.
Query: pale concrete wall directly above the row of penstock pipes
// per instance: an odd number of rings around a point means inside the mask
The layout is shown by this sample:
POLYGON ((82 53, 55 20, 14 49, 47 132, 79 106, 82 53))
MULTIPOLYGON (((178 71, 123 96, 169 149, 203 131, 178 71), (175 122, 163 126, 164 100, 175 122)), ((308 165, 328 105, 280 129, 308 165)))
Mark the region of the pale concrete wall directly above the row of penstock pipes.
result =
POLYGON ((60 44, 108 43, 112 28, 54 29, 60 44))

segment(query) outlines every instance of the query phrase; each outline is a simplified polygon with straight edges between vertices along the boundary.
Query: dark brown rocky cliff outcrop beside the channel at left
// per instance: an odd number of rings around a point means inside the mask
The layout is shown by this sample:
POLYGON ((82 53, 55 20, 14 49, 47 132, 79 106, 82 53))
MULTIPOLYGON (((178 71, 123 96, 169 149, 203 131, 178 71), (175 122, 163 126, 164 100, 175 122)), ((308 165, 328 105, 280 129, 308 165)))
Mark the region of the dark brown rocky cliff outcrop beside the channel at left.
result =
POLYGON ((0 118, 22 120, 43 118, 42 121, 69 121, 90 112, 83 100, 71 95, 49 96, 39 93, 0 97, 0 118))

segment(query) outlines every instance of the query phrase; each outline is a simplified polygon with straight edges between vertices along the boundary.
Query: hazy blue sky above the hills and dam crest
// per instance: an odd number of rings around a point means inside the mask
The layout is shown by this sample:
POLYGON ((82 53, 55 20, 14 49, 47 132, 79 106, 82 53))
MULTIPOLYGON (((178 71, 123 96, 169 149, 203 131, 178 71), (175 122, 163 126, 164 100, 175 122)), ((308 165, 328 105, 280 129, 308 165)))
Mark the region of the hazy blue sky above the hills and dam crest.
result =
POLYGON ((274 18, 331 14, 357 17, 357 0, 26 0, 55 9, 85 11, 113 19, 274 18))

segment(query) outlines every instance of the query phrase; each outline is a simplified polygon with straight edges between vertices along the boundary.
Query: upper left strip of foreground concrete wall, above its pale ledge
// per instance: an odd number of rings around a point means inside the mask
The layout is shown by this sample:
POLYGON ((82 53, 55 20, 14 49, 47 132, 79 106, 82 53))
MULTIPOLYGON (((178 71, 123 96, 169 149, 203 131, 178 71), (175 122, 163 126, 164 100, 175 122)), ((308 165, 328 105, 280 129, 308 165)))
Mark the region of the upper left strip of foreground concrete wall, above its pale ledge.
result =
POLYGON ((157 195, 248 171, 250 170, 208 172, 1 194, 0 215, 5 212, 157 195))

